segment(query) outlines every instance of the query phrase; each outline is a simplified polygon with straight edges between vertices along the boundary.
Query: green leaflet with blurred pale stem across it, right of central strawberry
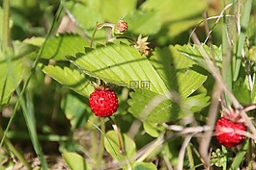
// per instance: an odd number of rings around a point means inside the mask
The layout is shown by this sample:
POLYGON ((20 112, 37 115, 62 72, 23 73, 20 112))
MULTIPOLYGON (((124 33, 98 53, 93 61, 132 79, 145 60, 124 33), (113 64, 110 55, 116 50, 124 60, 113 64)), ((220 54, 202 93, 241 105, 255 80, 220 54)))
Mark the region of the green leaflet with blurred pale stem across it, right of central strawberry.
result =
POLYGON ((147 89, 130 92, 128 111, 141 121, 163 123, 181 118, 179 107, 163 95, 147 89))

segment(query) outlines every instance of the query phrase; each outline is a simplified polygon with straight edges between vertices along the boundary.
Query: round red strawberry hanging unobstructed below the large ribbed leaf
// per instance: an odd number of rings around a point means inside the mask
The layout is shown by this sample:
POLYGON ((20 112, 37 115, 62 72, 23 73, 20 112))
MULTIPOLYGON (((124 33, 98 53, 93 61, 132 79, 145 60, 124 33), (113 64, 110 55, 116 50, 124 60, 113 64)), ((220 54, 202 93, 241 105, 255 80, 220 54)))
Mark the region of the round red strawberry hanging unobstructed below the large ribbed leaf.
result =
POLYGON ((96 88, 89 97, 89 106, 96 116, 111 116, 118 108, 118 97, 109 88, 96 88))

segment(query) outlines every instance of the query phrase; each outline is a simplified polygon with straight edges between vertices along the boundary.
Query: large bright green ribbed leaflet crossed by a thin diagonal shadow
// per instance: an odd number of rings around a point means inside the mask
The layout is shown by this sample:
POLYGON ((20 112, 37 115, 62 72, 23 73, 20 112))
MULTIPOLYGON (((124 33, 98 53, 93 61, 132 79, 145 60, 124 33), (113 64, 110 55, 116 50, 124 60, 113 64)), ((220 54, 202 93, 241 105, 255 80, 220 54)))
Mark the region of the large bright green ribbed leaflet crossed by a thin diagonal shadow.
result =
POLYGON ((99 47, 83 56, 79 55, 75 64, 86 74, 105 82, 130 88, 147 87, 168 96, 167 86, 150 61, 141 56, 134 47, 126 44, 99 47))

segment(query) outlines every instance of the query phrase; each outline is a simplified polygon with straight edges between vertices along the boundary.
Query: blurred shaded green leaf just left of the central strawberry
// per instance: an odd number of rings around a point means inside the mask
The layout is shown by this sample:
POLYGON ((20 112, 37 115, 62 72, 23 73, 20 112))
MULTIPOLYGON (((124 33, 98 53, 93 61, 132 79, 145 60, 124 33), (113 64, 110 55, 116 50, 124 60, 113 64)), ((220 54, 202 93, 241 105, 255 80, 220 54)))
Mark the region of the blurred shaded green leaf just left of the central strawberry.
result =
POLYGON ((71 130, 83 127, 88 120, 89 114, 85 102, 77 97, 68 94, 61 102, 61 108, 64 110, 66 117, 71 121, 71 130))

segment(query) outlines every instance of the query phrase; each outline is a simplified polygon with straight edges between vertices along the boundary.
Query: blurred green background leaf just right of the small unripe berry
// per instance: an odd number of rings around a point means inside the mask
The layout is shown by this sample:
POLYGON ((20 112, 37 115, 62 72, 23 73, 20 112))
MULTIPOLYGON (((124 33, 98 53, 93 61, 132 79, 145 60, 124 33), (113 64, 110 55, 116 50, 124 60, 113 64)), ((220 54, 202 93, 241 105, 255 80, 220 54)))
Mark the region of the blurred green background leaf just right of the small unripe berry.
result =
POLYGON ((137 35, 154 35, 160 29, 160 15, 158 12, 136 11, 125 17, 128 22, 128 32, 137 35))

